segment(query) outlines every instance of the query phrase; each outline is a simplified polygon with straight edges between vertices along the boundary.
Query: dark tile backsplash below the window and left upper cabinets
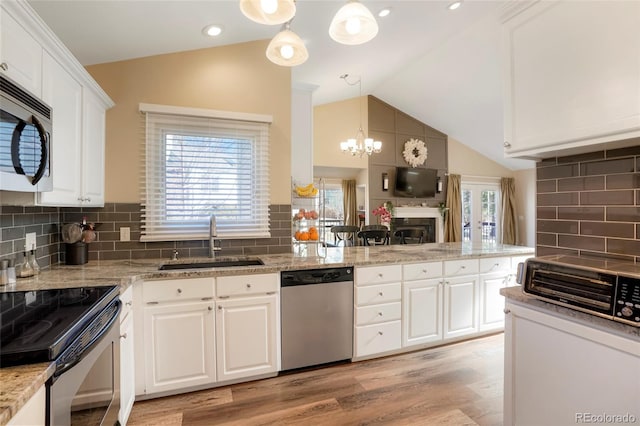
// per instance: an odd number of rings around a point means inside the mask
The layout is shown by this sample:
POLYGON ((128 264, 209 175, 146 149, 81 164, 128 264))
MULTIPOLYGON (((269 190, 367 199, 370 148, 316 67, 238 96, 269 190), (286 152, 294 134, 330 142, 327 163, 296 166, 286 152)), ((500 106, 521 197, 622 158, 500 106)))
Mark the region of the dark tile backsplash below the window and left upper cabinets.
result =
MULTIPOLYGON (((0 206, 0 259, 21 259, 25 235, 35 232, 36 257, 41 267, 65 262, 60 230, 65 223, 96 224, 96 241, 89 244, 89 261, 114 259, 207 256, 209 242, 140 242, 140 205, 107 203, 100 208, 54 208, 0 206), (129 227, 131 241, 120 241, 120 228, 129 227)), ((291 206, 271 205, 271 238, 222 240, 219 256, 277 254, 291 252, 291 206)))

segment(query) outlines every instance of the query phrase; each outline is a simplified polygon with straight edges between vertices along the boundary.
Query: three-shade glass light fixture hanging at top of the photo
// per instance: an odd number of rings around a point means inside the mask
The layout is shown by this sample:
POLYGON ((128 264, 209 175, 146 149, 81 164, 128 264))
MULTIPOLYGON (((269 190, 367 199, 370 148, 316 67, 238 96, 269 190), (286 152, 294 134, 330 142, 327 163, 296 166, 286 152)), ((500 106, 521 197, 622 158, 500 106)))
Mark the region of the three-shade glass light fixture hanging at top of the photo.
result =
MULTIPOLYGON (((296 14, 294 0, 240 0, 240 10, 250 20, 263 25, 285 24, 269 43, 266 55, 277 65, 296 66, 304 63, 309 53, 302 39, 291 28, 296 14)), ((338 10, 329 26, 330 37, 341 44, 357 45, 378 34, 378 23, 358 0, 348 2, 338 10)))

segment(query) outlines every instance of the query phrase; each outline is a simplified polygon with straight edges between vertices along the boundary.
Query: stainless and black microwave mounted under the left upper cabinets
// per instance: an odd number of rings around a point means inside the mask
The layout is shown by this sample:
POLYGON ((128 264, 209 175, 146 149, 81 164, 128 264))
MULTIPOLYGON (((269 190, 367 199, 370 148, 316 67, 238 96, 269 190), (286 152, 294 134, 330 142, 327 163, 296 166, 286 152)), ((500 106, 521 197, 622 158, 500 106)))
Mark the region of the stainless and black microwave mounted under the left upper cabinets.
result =
POLYGON ((51 107, 0 75, 0 190, 53 189, 51 131, 51 107))

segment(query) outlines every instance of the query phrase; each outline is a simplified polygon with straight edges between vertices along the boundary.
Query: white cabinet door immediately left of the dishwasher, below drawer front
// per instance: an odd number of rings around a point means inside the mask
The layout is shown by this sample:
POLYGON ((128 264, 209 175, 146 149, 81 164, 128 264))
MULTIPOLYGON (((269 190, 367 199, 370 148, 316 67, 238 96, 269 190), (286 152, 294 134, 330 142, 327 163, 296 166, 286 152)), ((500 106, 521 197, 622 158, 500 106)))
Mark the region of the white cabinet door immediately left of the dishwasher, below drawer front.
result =
POLYGON ((275 294, 216 302, 218 381, 278 371, 277 302, 275 294))

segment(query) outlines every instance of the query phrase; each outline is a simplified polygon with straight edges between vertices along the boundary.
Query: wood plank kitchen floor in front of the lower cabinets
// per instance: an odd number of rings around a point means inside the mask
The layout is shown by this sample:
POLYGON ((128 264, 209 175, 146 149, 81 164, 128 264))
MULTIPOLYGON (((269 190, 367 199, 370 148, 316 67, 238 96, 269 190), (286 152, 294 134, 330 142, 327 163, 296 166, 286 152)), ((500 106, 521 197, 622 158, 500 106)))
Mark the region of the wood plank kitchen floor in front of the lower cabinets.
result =
POLYGON ((501 425, 503 334, 136 402, 128 425, 501 425))

